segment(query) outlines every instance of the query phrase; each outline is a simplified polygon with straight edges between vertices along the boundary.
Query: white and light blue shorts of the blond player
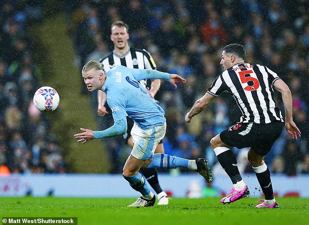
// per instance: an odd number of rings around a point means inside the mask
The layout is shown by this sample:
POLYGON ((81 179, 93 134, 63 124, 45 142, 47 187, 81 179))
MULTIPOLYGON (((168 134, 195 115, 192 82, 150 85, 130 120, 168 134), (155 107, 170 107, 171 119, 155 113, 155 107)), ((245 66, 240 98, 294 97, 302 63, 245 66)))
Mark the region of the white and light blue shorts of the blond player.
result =
POLYGON ((164 138, 166 123, 149 130, 142 130, 135 123, 131 130, 134 147, 131 155, 136 159, 151 159, 155 153, 156 146, 164 138))

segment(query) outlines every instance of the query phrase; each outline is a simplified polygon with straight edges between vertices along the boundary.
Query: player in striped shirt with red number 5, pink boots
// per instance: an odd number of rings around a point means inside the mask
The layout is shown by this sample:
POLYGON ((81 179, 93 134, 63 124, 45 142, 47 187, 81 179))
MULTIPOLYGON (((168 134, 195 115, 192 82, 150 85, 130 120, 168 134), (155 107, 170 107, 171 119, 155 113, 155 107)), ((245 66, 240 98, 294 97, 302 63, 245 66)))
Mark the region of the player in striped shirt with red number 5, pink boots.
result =
POLYGON ((245 49, 240 44, 223 48, 220 65, 225 71, 213 81, 206 94, 194 103, 185 120, 190 123, 193 116, 202 112, 222 92, 232 94, 242 112, 240 121, 211 139, 214 153, 233 184, 221 203, 232 203, 249 196, 249 188, 239 173, 231 147, 250 147, 248 160, 265 194, 265 200, 260 200, 261 203, 255 207, 278 208, 270 170, 263 160, 280 136, 284 122, 280 110, 275 106, 274 90, 282 95, 286 130, 293 139, 297 139, 301 133, 292 119, 292 96, 287 84, 268 67, 245 63, 245 57, 245 49))

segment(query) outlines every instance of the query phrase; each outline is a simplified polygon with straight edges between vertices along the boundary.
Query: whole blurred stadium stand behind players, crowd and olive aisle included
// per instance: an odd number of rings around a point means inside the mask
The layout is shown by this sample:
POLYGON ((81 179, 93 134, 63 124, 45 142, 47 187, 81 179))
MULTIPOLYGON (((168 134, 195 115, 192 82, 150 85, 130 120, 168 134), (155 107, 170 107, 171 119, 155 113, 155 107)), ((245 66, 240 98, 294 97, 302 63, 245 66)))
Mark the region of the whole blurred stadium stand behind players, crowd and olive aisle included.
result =
MULTIPOLYGON (((96 95, 83 87, 80 69, 113 49, 110 24, 129 24, 130 44, 147 49, 157 69, 188 83, 173 91, 163 83, 157 94, 168 122, 167 153, 206 156, 215 174, 223 171, 210 138, 233 124, 238 108, 229 96, 184 123, 195 99, 204 94, 219 66, 222 47, 241 43, 247 61, 267 64, 290 86, 294 119, 302 138, 285 131, 266 161, 272 173, 309 173, 309 2, 308 0, 3 0, 0 3, 0 165, 3 173, 119 173, 129 150, 121 138, 79 145, 80 127, 102 130, 96 95), (40 86, 60 95, 55 112, 34 109, 40 86), (122 151, 121 151, 122 150, 122 151)), ((277 96, 281 110, 282 103, 277 96)), ((246 150, 235 150, 242 172, 252 172, 246 150)), ((165 171, 161 171, 165 172, 165 171)), ((175 172, 175 171, 174 171, 175 172)), ((188 171, 179 171, 187 173, 188 171)))

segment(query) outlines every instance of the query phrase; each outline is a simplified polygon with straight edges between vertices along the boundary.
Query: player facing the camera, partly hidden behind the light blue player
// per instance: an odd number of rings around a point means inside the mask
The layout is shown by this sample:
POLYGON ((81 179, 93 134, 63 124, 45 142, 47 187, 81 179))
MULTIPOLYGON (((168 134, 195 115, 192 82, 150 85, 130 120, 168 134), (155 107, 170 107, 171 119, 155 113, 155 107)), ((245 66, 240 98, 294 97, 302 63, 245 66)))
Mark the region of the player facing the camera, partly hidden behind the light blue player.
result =
MULTIPOLYGON (((114 51, 100 62, 104 64, 104 69, 108 72, 116 65, 122 65, 128 68, 135 69, 156 69, 155 61, 152 56, 145 49, 130 48, 129 43, 129 27, 122 21, 116 21, 111 25, 111 40, 114 43, 114 51)), ((160 88, 160 79, 144 79, 139 83, 146 89, 148 94, 154 98, 155 94, 160 88)), ((97 114, 104 116, 108 113, 105 108, 106 94, 102 91, 97 92, 97 114)), ((131 136, 131 129, 133 127, 133 120, 128 118, 128 131, 124 135, 126 143, 131 147, 134 146, 133 138, 131 136)), ((157 145, 155 153, 164 153, 164 146, 162 140, 157 145)), ((141 169, 141 173, 146 177, 150 186, 154 188, 159 200, 158 205, 168 205, 169 199, 167 194, 162 190, 156 169, 141 169)))

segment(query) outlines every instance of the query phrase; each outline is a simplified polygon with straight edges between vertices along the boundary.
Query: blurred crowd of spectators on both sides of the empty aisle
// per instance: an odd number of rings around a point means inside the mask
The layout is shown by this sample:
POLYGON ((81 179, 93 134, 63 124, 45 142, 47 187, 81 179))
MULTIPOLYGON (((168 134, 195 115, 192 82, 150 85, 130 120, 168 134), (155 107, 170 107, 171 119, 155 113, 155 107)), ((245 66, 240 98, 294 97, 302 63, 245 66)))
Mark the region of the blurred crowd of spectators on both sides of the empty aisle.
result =
MULTIPOLYGON (((35 3, 16 8, 9 2, 12 1, 1 3, 0 13, 0 164, 10 169, 19 165, 19 170, 25 172, 23 164, 28 163, 28 168, 31 168, 38 163, 42 170, 50 172, 47 158, 53 154, 48 147, 51 141, 43 138, 48 121, 31 103, 32 94, 38 87, 34 87, 36 82, 29 80, 36 80, 40 71, 31 58, 32 42, 26 34, 27 24, 39 20, 42 15, 35 3), (35 131, 36 135, 30 136, 27 129, 35 131), (12 146, 15 139, 24 145, 12 146), (39 157, 35 156, 37 152, 39 157)), ((184 116, 213 79, 222 73, 219 65, 222 48, 230 43, 243 44, 247 51, 246 62, 267 65, 289 85, 293 95, 294 121, 302 132, 301 138, 292 140, 283 129, 265 158, 266 163, 272 173, 309 173, 306 126, 309 115, 308 0, 65 2, 67 7, 63 10, 68 34, 74 40, 75 62, 79 69, 85 62, 99 60, 113 50, 110 25, 123 20, 129 25, 130 46, 150 52, 157 70, 176 73, 187 79, 187 84, 177 90, 163 82, 155 96, 166 112, 165 151, 185 158, 206 157, 216 174, 224 171, 217 163, 210 139, 237 122, 240 117, 238 106, 232 96, 222 94, 207 110, 194 117, 191 124, 184 122, 184 116)), ((91 98, 96 109, 96 93, 91 98)), ((279 93, 276 93, 276 102, 284 112, 279 93)), ((104 117, 97 119, 102 130, 111 125, 111 121, 104 117)), ((121 137, 103 141, 114 165, 111 172, 120 172, 130 150, 121 137)), ((53 144, 58 148, 57 143, 53 144)), ((253 172, 246 157, 247 151, 234 149, 241 172, 253 172)), ((62 154, 58 156, 62 157, 62 154)), ((63 160, 59 161, 65 165, 63 160)), ((58 172, 65 171, 65 167, 56 168, 58 172)))

